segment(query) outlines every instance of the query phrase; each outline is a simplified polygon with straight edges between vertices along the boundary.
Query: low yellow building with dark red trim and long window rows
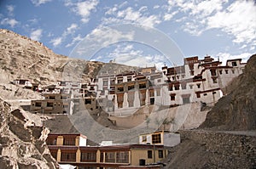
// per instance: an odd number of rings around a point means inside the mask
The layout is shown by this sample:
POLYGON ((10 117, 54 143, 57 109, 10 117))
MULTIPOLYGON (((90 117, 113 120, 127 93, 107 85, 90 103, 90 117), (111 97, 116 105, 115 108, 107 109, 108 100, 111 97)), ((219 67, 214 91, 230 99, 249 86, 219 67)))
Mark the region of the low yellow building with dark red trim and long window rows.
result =
POLYGON ((163 161, 167 150, 163 145, 119 144, 86 146, 86 137, 80 134, 49 134, 46 140, 51 155, 59 164, 78 168, 119 168, 145 166, 163 161))

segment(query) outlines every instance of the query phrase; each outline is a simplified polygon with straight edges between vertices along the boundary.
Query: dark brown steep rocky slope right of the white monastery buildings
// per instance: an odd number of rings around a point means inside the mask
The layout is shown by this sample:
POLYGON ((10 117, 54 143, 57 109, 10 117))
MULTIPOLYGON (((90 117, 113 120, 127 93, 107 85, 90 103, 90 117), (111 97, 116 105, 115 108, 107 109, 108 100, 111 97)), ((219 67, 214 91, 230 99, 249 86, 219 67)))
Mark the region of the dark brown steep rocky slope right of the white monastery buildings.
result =
POLYGON ((201 128, 217 130, 256 129, 256 54, 247 62, 245 72, 230 86, 230 93, 218 100, 201 128))

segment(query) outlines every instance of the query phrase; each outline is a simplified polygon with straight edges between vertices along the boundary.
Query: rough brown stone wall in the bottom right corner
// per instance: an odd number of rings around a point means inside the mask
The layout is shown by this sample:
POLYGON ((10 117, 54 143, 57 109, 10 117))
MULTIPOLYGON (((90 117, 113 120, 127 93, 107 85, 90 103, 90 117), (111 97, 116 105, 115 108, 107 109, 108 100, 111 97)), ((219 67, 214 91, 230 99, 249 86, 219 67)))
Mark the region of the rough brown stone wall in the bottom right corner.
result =
MULTIPOLYGON (((213 132, 181 131, 182 141, 189 139, 207 151, 210 168, 256 168, 256 131, 213 132)), ((200 161, 200 159, 198 159, 200 161)))

